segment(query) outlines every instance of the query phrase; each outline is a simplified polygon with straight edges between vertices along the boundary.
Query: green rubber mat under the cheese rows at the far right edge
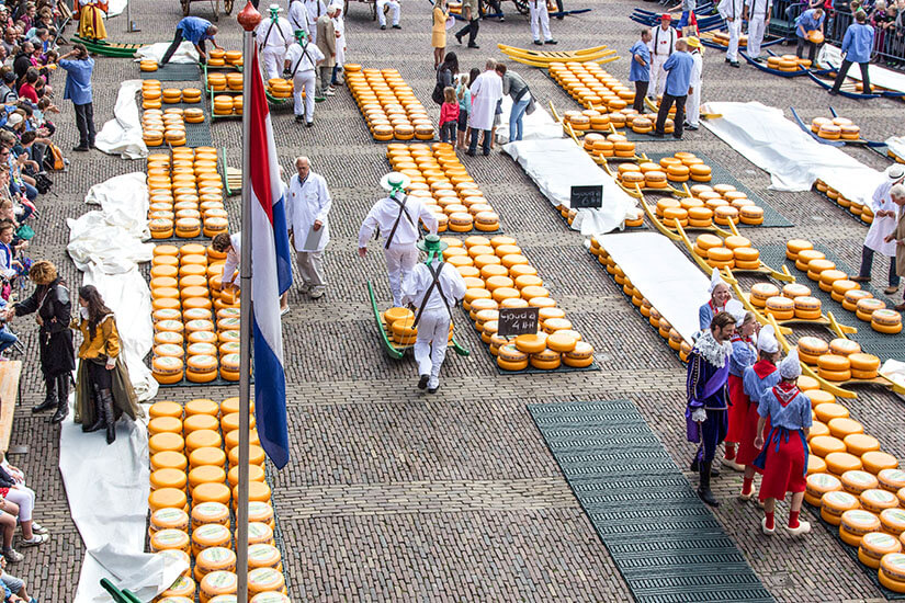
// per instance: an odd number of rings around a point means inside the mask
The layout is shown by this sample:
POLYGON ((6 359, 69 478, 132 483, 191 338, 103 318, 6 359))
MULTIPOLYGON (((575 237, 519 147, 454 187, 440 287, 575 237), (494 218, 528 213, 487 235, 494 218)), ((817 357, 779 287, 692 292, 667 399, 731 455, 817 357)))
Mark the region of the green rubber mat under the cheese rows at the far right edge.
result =
MULTIPOLYGON (((802 272, 796 269, 795 262, 785 258, 784 244, 763 244, 758 249, 760 250, 760 259, 763 260, 765 263, 773 266, 774 270, 779 270, 779 266, 784 263, 792 276, 795 277, 796 282, 810 287, 811 295, 821 300, 821 307, 823 308, 824 314, 832 311, 833 316, 836 317, 836 320, 842 325, 857 328, 858 332, 848 337, 860 343, 864 352, 875 354, 880 356, 882 361, 886 361, 887 359, 905 357, 905 331, 897 334, 886 334, 871 329, 869 322, 858 319, 855 316, 855 312, 850 312, 845 309, 839 302, 833 299, 828 292, 821 289, 817 286, 817 283, 808 278, 806 272, 802 272)), ((858 274, 857 270, 853 270, 827 248, 815 244, 814 249, 823 252, 827 260, 835 263, 836 270, 841 270, 849 276, 858 274)), ((880 273, 885 276, 886 261, 887 260, 885 258, 875 258, 873 262, 874 271, 879 269, 880 273)), ((882 291, 879 291, 867 283, 862 283, 861 288, 869 291, 878 299, 884 300, 887 308, 892 308, 894 305, 900 303, 897 299, 883 295, 882 291)))

